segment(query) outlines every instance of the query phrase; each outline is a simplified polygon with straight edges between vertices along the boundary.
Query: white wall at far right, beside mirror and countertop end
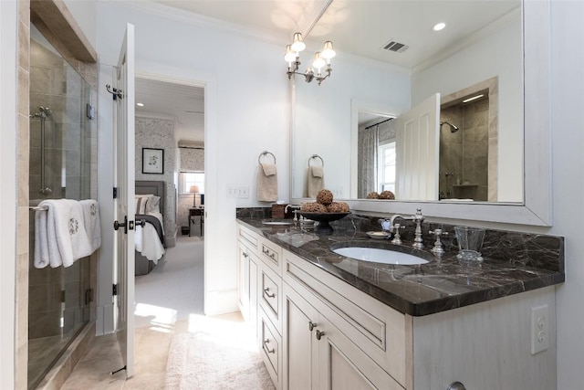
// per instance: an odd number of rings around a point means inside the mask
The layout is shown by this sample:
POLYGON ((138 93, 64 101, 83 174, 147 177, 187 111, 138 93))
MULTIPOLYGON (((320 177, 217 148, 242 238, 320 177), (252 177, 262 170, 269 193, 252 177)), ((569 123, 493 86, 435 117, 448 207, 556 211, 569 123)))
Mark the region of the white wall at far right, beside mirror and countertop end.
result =
POLYGON ((550 234, 566 237, 566 283, 558 287, 558 389, 584 383, 584 2, 551 7, 553 212, 550 234))

